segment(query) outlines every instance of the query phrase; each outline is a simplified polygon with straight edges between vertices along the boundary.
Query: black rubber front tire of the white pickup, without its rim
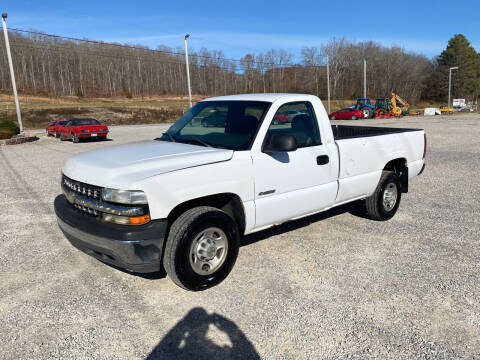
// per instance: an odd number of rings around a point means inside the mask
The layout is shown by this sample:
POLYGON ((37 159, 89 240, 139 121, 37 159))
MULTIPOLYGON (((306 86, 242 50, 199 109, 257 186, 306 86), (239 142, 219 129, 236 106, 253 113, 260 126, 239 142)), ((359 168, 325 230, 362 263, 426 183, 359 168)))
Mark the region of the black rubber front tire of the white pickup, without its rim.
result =
POLYGON ((225 212, 208 206, 187 210, 170 227, 163 264, 170 279, 185 290, 201 291, 221 283, 235 264, 240 234, 233 219, 225 212), (216 227, 226 235, 228 250, 220 267, 209 275, 193 269, 190 256, 192 243, 203 230, 216 227))

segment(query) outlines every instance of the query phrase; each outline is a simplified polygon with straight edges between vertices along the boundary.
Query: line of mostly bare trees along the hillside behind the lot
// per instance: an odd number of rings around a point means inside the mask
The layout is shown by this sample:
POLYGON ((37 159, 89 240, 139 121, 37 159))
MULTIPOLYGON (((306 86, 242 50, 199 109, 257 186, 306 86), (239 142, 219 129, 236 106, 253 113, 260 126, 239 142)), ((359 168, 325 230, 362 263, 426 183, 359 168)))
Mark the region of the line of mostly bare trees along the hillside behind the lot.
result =
MULTIPOLYGON (((10 31, 17 88, 46 96, 126 96, 186 94, 183 49, 125 46, 61 38, 37 32, 10 31)), ((0 38, 0 89, 11 89, 3 37, 0 38)), ((332 99, 363 96, 363 60, 367 63, 367 95, 391 91, 408 101, 443 99, 448 92, 449 66, 457 97, 478 96, 480 55, 463 35, 452 38, 433 60, 372 41, 331 39, 305 47, 295 61, 292 53, 272 49, 227 59, 222 51, 189 50, 192 92, 224 95, 253 92, 296 92, 327 97, 327 57, 332 99)))

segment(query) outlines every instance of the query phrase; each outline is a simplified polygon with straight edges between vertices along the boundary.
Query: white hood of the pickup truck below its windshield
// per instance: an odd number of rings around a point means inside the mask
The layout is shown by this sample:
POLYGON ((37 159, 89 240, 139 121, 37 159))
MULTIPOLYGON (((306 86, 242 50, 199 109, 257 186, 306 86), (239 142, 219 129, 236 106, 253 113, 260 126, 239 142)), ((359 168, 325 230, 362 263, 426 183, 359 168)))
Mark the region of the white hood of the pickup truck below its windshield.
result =
POLYGON ((232 158, 233 150, 168 141, 142 141, 108 146, 71 157, 63 173, 71 179, 116 189, 145 178, 232 158))

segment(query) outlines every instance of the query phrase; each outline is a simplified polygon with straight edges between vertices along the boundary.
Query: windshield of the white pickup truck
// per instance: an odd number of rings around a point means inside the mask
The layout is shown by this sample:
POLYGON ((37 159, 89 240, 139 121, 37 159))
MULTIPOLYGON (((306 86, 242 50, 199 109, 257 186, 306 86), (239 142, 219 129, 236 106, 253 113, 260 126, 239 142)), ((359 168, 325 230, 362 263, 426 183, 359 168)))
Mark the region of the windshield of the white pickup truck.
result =
POLYGON ((248 150, 270 104, 263 101, 199 102, 159 140, 248 150))

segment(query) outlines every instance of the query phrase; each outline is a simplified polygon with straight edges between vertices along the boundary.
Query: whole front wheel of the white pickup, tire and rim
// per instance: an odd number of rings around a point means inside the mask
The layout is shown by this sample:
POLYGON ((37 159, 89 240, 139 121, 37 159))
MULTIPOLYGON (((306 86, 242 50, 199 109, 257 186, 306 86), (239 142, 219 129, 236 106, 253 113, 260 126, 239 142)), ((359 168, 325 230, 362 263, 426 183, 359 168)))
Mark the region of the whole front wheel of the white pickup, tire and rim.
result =
POLYGON ((221 283, 235 264, 240 234, 225 212, 208 206, 187 210, 172 224, 163 264, 170 279, 191 291, 221 283))

